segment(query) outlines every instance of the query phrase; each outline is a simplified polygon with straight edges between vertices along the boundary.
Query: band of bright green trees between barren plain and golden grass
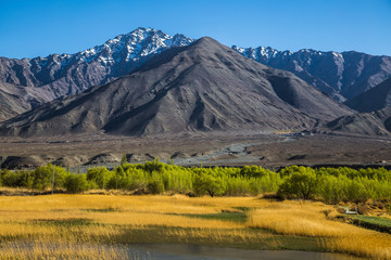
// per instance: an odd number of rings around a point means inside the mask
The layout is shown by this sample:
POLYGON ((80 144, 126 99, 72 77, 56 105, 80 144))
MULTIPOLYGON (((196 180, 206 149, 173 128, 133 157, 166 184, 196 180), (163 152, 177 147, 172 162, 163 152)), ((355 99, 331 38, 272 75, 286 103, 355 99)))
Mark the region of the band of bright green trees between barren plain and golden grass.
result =
POLYGON ((282 198, 320 198, 328 204, 391 200, 391 171, 384 168, 355 170, 291 166, 275 172, 258 166, 185 168, 154 160, 138 165, 124 162, 113 170, 90 168, 87 173, 77 174, 48 165, 31 171, 0 170, 0 185, 40 191, 53 186, 68 193, 91 188, 197 196, 277 193, 282 198))

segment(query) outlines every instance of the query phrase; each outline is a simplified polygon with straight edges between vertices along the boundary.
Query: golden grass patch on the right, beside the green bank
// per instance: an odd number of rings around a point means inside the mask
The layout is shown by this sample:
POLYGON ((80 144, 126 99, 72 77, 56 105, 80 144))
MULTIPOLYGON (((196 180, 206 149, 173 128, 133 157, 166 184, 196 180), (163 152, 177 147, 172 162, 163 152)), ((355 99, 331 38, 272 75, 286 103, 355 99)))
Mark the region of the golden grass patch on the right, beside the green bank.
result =
POLYGON ((323 237, 330 251, 391 259, 391 235, 332 220, 336 210, 320 203, 287 202, 252 210, 248 226, 285 235, 323 237), (325 213, 327 212, 327 213, 325 213))

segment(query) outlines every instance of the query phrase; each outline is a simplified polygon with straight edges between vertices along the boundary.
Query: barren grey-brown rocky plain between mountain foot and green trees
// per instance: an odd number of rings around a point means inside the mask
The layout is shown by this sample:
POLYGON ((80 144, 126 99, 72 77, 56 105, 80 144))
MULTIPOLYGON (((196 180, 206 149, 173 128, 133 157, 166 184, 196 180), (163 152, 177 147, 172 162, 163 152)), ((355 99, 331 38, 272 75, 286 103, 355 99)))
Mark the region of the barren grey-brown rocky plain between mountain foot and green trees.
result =
POLYGON ((81 171, 129 162, 174 160, 182 166, 289 165, 391 166, 391 139, 367 135, 214 132, 210 134, 116 136, 102 133, 42 139, 0 139, 2 168, 49 162, 81 171))

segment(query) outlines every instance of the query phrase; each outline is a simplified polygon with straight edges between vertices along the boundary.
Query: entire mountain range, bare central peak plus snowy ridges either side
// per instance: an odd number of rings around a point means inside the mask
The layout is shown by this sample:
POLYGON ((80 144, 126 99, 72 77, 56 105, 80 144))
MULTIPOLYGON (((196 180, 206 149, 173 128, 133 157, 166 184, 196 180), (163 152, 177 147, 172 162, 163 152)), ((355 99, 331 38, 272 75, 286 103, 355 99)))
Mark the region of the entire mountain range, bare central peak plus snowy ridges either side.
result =
POLYGON ((75 54, 0 57, 0 133, 389 134, 390 76, 389 56, 228 48, 138 28, 75 54))

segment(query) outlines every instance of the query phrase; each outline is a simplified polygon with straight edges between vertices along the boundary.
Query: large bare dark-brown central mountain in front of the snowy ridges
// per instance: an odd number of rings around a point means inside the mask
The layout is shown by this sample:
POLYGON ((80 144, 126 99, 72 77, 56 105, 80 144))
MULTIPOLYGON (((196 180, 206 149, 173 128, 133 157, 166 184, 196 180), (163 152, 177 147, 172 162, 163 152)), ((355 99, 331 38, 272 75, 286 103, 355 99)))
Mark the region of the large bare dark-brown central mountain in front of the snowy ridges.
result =
POLYGON ((287 130, 350 113, 293 74, 202 38, 172 48, 111 83, 13 118, 0 133, 287 130))

